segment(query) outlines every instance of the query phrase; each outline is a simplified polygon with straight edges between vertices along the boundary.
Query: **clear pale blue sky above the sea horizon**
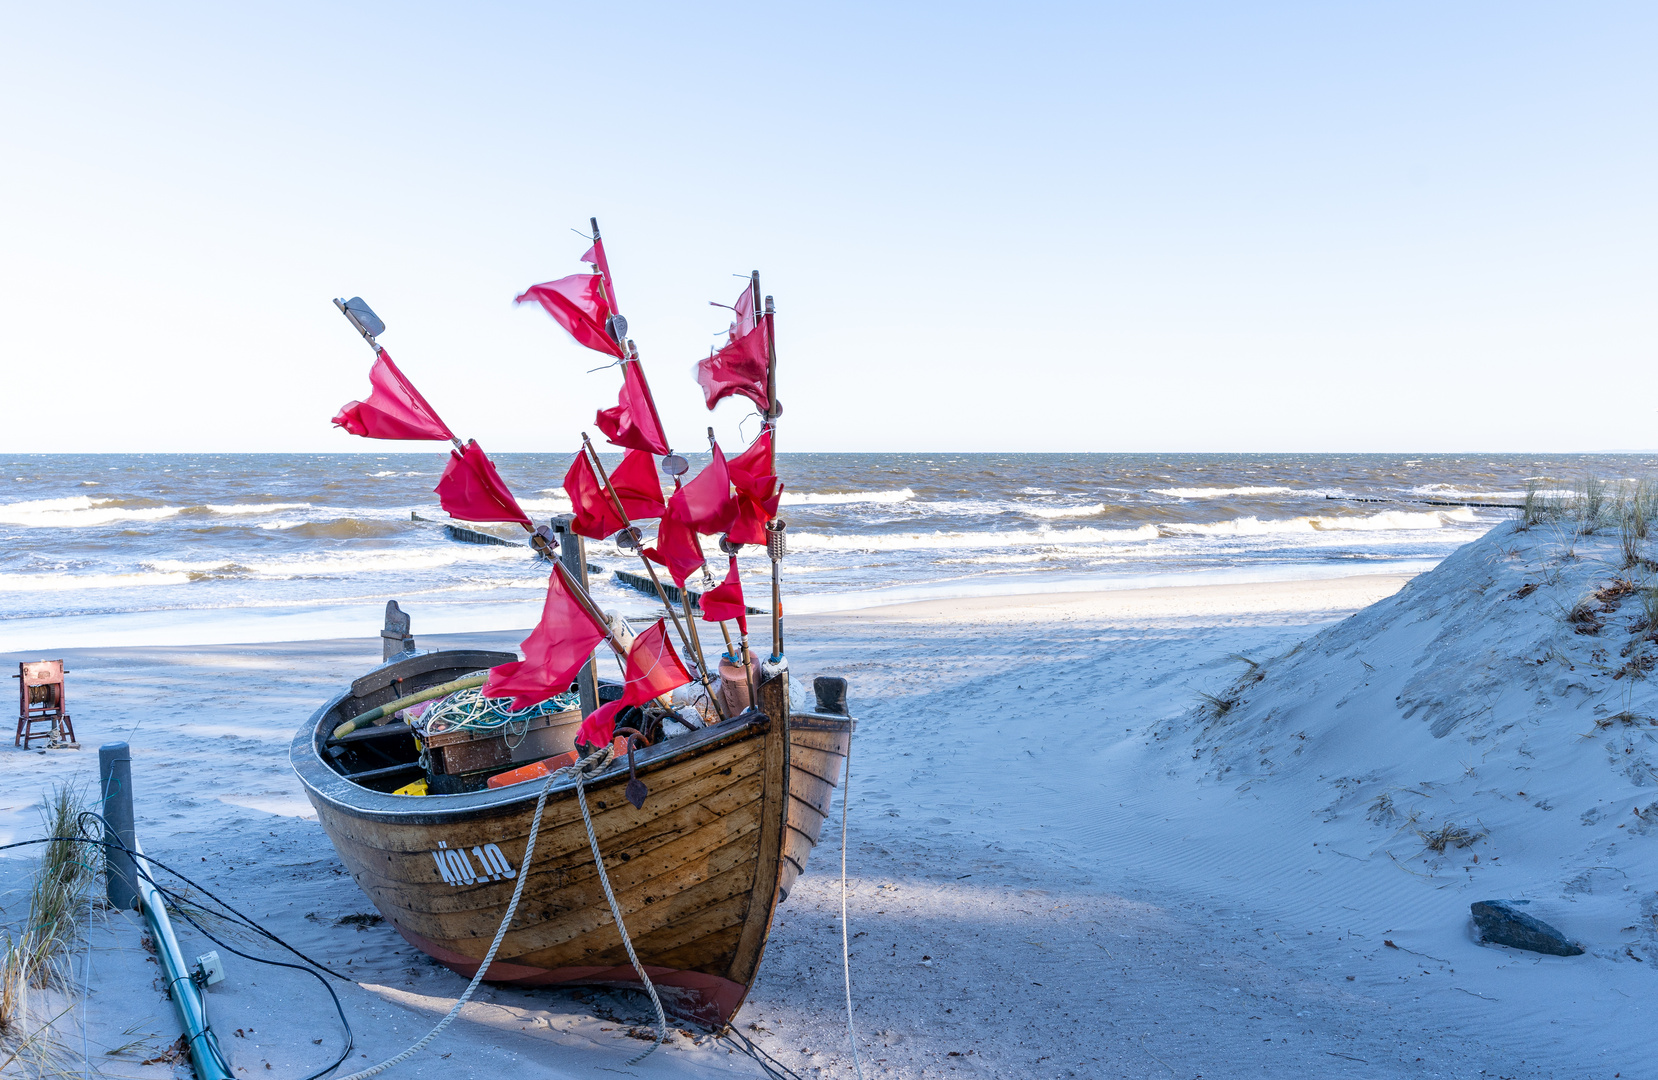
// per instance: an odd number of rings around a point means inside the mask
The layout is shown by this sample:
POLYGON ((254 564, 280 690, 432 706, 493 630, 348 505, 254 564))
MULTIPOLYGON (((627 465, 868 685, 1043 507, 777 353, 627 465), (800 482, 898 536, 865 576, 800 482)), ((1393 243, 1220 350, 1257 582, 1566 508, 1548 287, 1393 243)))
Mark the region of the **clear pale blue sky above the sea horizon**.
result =
POLYGON ((375 450, 353 294, 456 430, 574 450, 617 373, 511 300, 590 214, 676 445, 758 267, 784 450, 1653 446, 1655 55, 1635 3, 12 3, 0 450, 375 450))

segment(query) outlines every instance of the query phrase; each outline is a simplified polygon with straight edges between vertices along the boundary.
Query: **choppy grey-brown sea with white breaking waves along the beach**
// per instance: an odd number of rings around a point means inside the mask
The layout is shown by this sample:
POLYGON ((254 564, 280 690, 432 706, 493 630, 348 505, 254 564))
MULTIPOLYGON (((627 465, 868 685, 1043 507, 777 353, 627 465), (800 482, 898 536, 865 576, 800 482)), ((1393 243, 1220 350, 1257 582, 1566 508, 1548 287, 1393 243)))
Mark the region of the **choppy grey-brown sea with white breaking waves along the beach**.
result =
MULTIPOLYGON (((0 465, 0 650, 419 634, 534 624, 549 566, 449 539, 446 453, 27 455, 0 465)), ((613 463, 613 458, 610 460, 613 463)), ((706 461, 693 458, 691 466, 706 461)), ((1651 455, 781 455, 784 609, 1424 571, 1510 518, 1529 484, 1626 481, 1651 455), (1474 503, 1457 506, 1454 503, 1474 503)), ((499 455, 544 521, 564 455, 499 455)), ((710 571, 725 556, 705 541, 710 571)), ((633 554, 590 542, 594 596, 633 554)), ((749 602, 769 562, 744 547, 749 602)))

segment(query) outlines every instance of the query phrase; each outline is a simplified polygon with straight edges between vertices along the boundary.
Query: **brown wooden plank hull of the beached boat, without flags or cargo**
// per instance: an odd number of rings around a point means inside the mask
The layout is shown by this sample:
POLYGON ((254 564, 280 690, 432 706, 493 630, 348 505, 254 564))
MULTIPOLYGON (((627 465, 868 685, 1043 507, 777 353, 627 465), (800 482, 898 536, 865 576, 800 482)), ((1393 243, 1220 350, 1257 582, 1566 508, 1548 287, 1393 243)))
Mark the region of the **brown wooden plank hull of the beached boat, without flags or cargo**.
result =
MULTIPOLYGON (((405 939, 468 977, 526 869, 542 781, 396 795, 421 773, 405 725, 366 728, 348 740, 332 733, 376 705, 512 659, 479 650, 405 654, 318 708, 290 750, 358 888, 405 939)), ((594 834, 623 922, 671 1012, 726 1024, 753 985, 776 906, 817 843, 851 743, 854 722, 839 685, 827 703, 819 693, 816 710, 791 712, 784 667, 758 688, 759 710, 638 750, 635 768, 650 788, 640 808, 623 798, 625 756, 587 781, 594 834)), ((554 781, 527 873, 486 979, 637 987, 570 778, 554 781)))

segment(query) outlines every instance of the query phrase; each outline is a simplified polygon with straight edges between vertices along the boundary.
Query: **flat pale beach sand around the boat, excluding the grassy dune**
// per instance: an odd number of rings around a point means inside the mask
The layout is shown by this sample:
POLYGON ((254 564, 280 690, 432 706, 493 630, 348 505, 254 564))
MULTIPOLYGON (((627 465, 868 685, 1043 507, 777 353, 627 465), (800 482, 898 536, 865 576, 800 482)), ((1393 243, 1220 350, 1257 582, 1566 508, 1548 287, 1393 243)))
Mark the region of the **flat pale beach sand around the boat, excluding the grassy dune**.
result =
MULTIPOLYGON (((1549 962, 1472 944, 1466 902, 1481 896, 1457 886, 1454 904, 1424 909, 1419 893, 1454 879, 1401 894, 1398 879, 1418 878, 1370 853, 1310 846, 1315 806, 1302 788, 1273 801, 1194 771, 1185 725, 1197 692, 1224 690, 1240 670, 1230 655, 1283 654, 1403 582, 998 597, 793 619, 794 674, 849 677, 861 718, 849 863, 864 1073, 1653 1075, 1638 1040, 1615 1030, 1628 1012, 1595 1020, 1592 1009, 1567 1009, 1567 1030, 1502 1005, 1505 982, 1542 980, 1549 962), (1424 922, 1457 906, 1454 931, 1424 922)), ((421 647, 514 647, 522 637, 423 637, 418 606, 413 614, 421 647)), ((378 645, 63 654, 86 750, 0 753, 0 843, 35 834, 35 805, 53 781, 96 778, 98 743, 131 742, 146 848, 297 947, 348 966, 360 985, 340 992, 358 1067, 400 1050, 464 982, 385 926, 340 922, 371 906, 287 765, 295 727, 378 662, 378 645)), ((852 1075, 839 856, 839 836, 826 834, 738 1020, 806 1077, 852 1075)), ((25 859, 0 859, 5 919, 22 914, 23 871, 25 859)), ((211 947, 187 927, 181 936, 189 956, 211 947)), ((133 1055, 99 1057, 136 1037, 124 1030, 154 1032, 151 1045, 176 1035, 138 937, 119 914, 91 934, 88 1042, 106 1075, 164 1077, 169 1068, 133 1055)), ((239 1075, 302 1077, 332 1058, 338 1027, 313 980, 235 957, 227 971, 209 1000, 239 1075)), ((1582 975, 1585 994, 1650 997, 1646 982, 1595 972, 1582 975)), ((1525 1000, 1539 994, 1525 989, 1525 1000)), ((623 1070, 643 1045, 625 1027, 647 1007, 628 994, 484 987, 464 1022, 390 1075, 623 1070)), ((80 1039, 71 1025, 65 1044, 78 1052, 80 1039)), ((759 1075, 683 1037, 625 1072, 759 1075)))

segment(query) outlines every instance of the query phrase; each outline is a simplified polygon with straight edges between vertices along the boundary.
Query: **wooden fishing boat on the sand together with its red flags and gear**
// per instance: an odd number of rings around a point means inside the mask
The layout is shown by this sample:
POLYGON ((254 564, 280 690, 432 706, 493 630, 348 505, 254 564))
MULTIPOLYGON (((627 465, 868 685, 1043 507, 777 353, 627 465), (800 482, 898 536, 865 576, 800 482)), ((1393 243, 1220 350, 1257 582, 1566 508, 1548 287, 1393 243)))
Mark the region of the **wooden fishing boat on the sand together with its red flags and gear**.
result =
MULTIPOLYGON (((754 982, 778 904, 804 873, 822 833, 851 747, 852 718, 841 679, 817 680, 816 708, 791 710, 779 569, 788 524, 778 518, 783 486, 776 474, 776 425, 783 405, 776 390, 776 312, 771 297, 761 302, 759 274, 749 275, 730 305, 736 319, 726 345, 696 365, 705 405, 711 410, 733 395, 753 401, 761 410, 759 435, 728 461, 708 428, 710 465, 681 486, 680 476, 690 466, 662 430, 638 348, 615 305, 599 222, 592 226, 594 246, 582 257, 592 272, 532 285, 517 302, 541 304, 574 340, 620 363, 617 406, 600 410, 595 423, 627 456, 612 474, 584 431, 564 483, 575 513, 545 526, 531 521, 482 448, 463 443, 398 370, 376 340, 385 324, 361 297, 335 300, 375 350, 375 390, 366 401, 347 403, 333 423, 366 438, 453 443, 436 488, 443 509, 469 523, 517 523, 531 533, 531 546, 557 562, 542 619, 524 639, 522 660, 479 650, 414 655, 408 619, 388 606, 383 637, 388 654, 396 655, 318 708, 290 753, 351 878, 400 934, 439 962, 474 975, 522 884, 519 907, 486 979, 526 985, 640 984, 627 956, 625 942, 632 941, 667 1007, 726 1024, 754 982), (657 474, 658 458, 660 471, 673 478, 671 496, 657 474), (658 519, 652 547, 645 547, 633 516, 658 519), (726 579, 718 586, 706 571, 705 534, 720 534, 728 557, 726 579), (658 619, 625 642, 599 611, 587 584, 587 571, 597 567, 589 567, 582 538, 613 539, 618 551, 638 554, 645 577, 632 584, 643 587, 648 581, 680 635, 690 670, 668 640, 667 620, 658 619), (764 665, 756 665, 749 652, 746 617, 758 609, 743 599, 736 552, 744 544, 763 546, 771 561, 771 659, 764 665), (673 579, 671 591, 657 574, 658 566, 673 579), (693 604, 688 582, 698 574, 705 591, 693 604), (675 614, 675 604, 683 617, 675 614), (706 660, 698 620, 721 627, 726 654, 718 665, 706 660), (736 624, 734 637, 728 620, 736 624), (595 635, 625 659, 623 684, 612 697, 600 693, 594 680, 595 635), (716 680, 715 667, 736 672, 733 682, 716 680), (481 669, 492 670, 459 679, 481 669), (580 708, 562 698, 572 677, 580 708), (395 722, 414 703, 405 698, 423 690, 433 690, 424 697, 434 698, 436 687, 458 680, 474 693, 466 708, 497 710, 492 715, 506 722, 499 705, 479 703, 487 693, 491 702, 514 702, 519 712, 511 715, 524 723, 517 730, 511 723, 504 730, 474 725, 476 712, 468 712, 459 728, 426 727, 424 718, 416 718, 414 727, 395 722), (683 722, 670 725, 665 703, 693 680, 701 684, 700 700, 708 712, 688 705, 690 713, 675 713, 683 722), (628 708, 633 713, 623 712, 628 708), (385 713, 393 713, 393 722, 376 723, 385 713), (512 783, 524 770, 534 771, 536 761, 542 776, 555 768, 557 750, 574 747, 577 727, 584 745, 610 743, 622 715, 638 717, 630 738, 645 745, 584 781, 592 833, 574 776, 554 773, 550 788, 545 780, 512 783), (416 727, 426 727, 424 742, 416 727), (567 742, 554 748, 560 738, 567 742), (643 801, 630 783, 635 770, 648 786, 643 801), (526 866, 542 790, 549 793, 545 816, 526 866), (595 844, 604 871, 594 861, 595 844), (620 916, 605 898, 605 873, 620 916)), ((456 539, 506 542, 464 526, 444 528, 456 539)), ((454 695, 451 705, 461 700, 463 687, 444 688, 454 695)))

